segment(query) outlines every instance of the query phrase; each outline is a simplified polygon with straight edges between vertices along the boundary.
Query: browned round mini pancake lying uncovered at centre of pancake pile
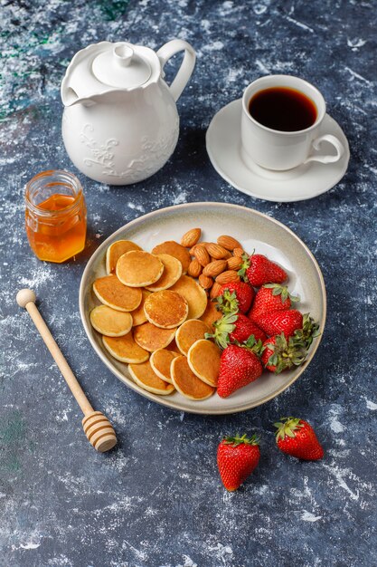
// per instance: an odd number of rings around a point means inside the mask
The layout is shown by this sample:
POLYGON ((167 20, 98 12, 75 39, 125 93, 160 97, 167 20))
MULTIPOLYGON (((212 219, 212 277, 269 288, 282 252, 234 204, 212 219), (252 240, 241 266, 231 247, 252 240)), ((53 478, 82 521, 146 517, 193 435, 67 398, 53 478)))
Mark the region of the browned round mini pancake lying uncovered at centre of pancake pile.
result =
POLYGON ((186 320, 188 304, 179 293, 164 290, 148 295, 144 312, 146 319, 156 327, 174 329, 186 320))

